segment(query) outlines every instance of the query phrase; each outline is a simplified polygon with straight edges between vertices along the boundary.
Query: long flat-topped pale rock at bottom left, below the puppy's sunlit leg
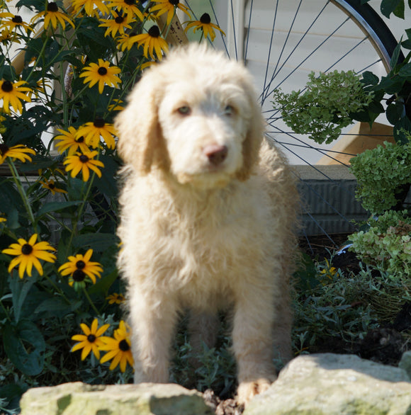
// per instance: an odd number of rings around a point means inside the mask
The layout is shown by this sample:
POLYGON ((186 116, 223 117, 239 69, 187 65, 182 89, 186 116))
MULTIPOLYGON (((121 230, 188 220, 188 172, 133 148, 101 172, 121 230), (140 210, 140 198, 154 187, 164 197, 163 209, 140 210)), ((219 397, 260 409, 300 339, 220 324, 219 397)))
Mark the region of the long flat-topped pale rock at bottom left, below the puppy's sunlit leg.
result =
POLYGON ((175 384, 36 387, 21 399, 21 415, 210 415, 195 390, 175 384))

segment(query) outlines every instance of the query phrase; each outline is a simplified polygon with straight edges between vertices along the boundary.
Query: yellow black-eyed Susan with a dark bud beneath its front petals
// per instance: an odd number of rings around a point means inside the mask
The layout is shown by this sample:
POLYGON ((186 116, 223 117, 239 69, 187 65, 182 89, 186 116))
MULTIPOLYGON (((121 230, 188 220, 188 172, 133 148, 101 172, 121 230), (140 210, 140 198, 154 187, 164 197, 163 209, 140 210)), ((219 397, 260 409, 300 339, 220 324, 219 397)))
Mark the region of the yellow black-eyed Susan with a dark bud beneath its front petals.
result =
POLYGON ((101 263, 90 261, 92 255, 93 249, 89 249, 84 255, 69 256, 69 261, 60 266, 59 272, 63 276, 69 275, 69 285, 82 283, 86 277, 95 284, 96 277, 101 278, 103 267, 101 263))

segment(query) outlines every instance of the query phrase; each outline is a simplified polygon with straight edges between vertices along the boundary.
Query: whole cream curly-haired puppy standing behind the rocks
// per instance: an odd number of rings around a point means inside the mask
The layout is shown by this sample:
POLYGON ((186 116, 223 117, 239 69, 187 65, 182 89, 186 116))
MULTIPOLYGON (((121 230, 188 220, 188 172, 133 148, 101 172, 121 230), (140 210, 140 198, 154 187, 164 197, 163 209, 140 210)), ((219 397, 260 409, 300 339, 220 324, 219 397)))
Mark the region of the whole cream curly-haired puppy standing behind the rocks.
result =
POLYGON ((218 309, 232 307, 240 402, 276 379, 276 352, 291 358, 298 195, 264 125, 247 70, 198 45, 147 70, 118 116, 118 266, 128 283, 135 382, 168 381, 186 308, 198 345, 213 338, 206 329, 218 309))

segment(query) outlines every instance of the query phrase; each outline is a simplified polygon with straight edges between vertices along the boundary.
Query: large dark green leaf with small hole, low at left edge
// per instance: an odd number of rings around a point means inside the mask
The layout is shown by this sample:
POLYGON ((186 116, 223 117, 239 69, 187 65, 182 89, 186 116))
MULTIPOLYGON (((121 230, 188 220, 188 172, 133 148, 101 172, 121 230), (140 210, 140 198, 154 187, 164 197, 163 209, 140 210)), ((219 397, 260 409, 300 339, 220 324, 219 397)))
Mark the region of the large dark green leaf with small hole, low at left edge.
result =
POLYGON ((16 325, 6 323, 3 346, 13 365, 24 375, 35 376, 42 372, 45 340, 33 322, 21 320, 16 325))

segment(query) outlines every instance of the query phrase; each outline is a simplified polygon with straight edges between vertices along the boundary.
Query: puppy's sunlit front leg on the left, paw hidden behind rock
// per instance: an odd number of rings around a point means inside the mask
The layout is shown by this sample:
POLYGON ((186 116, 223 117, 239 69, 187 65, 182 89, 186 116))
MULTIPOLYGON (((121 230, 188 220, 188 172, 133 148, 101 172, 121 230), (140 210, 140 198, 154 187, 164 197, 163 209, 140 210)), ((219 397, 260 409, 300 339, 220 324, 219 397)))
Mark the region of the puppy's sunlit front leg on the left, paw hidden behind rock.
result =
POLYGON ((176 324, 176 304, 167 297, 135 295, 130 299, 134 382, 167 383, 176 324))

